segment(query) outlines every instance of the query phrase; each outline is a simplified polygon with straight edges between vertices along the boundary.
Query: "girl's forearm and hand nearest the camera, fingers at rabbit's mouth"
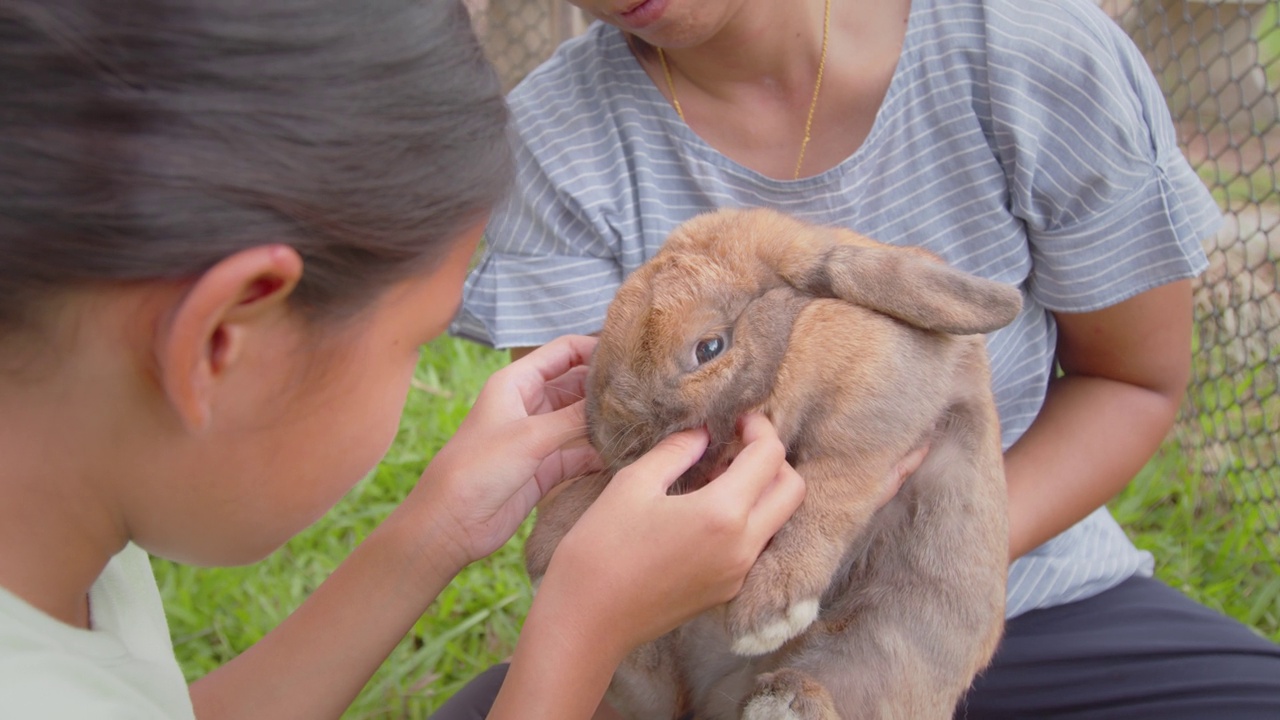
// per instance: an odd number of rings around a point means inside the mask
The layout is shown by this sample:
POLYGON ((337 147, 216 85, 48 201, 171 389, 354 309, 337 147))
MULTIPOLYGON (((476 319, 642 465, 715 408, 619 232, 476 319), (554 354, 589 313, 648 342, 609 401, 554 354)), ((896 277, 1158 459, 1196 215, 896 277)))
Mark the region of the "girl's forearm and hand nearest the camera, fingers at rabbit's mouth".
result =
POLYGON ((627 652, 737 593, 804 497, 764 416, 744 420, 742 439, 728 470, 691 493, 667 488, 701 456, 700 430, 613 477, 557 547, 490 720, 591 717, 627 652))

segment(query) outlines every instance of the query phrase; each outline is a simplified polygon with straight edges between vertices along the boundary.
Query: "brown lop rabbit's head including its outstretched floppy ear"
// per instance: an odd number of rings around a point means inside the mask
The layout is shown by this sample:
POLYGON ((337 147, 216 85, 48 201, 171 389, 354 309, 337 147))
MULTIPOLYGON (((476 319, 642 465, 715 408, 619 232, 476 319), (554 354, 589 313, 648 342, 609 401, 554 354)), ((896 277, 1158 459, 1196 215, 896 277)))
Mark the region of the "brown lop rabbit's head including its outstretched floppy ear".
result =
POLYGON ((588 382, 588 425, 605 462, 616 470, 673 432, 705 427, 710 446, 685 484, 705 482, 727 460, 737 419, 769 398, 791 325, 815 297, 956 334, 1002 327, 1021 304, 1016 288, 918 249, 772 210, 699 215, 609 305, 588 382))

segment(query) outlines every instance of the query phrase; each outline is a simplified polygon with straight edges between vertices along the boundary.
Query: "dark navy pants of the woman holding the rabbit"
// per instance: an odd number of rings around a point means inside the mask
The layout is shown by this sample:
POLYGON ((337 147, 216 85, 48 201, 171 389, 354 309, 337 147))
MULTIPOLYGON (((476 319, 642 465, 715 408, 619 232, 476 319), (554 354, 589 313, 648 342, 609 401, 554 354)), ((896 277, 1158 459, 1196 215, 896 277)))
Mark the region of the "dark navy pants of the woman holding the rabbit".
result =
MULTIPOLYGON (((506 674, 506 665, 485 671, 433 719, 483 719, 506 674)), ((1014 717, 1280 720, 1280 646, 1133 578, 1009 621, 956 719, 1014 717)))

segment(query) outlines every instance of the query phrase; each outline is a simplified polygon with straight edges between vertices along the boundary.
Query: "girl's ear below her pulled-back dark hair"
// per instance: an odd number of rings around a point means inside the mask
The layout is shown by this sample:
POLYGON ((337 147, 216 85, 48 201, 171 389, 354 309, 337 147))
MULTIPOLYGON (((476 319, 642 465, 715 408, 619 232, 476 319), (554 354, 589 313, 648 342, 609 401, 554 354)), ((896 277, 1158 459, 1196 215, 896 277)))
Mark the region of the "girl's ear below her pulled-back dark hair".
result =
POLYGON ((302 258, 287 245, 264 245, 230 255, 201 274, 156 333, 155 357, 170 405, 183 424, 204 430, 219 383, 244 346, 270 336, 302 277, 302 258))

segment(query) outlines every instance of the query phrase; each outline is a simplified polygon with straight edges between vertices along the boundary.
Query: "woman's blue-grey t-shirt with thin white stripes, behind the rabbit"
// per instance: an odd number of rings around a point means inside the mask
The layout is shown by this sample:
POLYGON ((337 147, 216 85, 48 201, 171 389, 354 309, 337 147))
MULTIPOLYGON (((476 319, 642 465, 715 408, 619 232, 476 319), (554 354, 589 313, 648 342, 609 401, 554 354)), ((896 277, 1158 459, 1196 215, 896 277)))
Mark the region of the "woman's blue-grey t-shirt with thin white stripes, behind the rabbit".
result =
MULTIPOLYGON (((1051 311, 1097 310, 1197 275, 1201 240, 1220 220, 1142 55, 1089 0, 913 0, 865 142, 797 181, 703 142, 600 23, 509 100, 516 190, 486 229, 456 334, 517 347, 596 332, 618 283, 676 224, 769 206, 924 246, 1021 288, 1021 314, 988 336, 1006 448, 1044 400, 1051 311)), ((1100 509, 1011 565, 1007 614, 1151 570, 1100 509)))

